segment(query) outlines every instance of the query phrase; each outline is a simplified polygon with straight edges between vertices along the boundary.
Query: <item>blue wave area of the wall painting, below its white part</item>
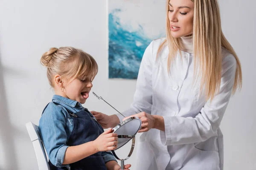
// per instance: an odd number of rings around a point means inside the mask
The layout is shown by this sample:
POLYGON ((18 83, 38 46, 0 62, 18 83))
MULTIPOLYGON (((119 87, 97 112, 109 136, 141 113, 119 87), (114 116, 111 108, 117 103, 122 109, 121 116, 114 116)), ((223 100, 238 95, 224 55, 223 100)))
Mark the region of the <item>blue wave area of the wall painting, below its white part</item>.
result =
POLYGON ((115 9, 108 15, 108 76, 137 79, 143 53, 152 40, 145 36, 142 26, 137 31, 125 30, 115 15, 120 11, 115 9))

